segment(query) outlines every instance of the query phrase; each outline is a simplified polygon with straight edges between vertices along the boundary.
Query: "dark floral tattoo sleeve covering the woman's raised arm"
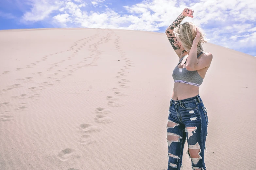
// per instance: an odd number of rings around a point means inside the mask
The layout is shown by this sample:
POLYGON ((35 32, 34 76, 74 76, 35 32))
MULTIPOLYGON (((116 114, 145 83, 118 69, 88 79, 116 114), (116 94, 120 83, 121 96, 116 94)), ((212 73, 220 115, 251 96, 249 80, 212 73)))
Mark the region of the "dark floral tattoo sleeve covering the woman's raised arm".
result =
MULTIPOLYGON (((168 40, 170 41, 170 43, 171 43, 171 45, 172 45, 172 47, 173 47, 174 50, 177 50, 177 49, 179 50, 180 47, 176 44, 177 38, 175 38, 175 36, 173 36, 173 35, 170 33, 170 31, 173 30, 175 27, 177 27, 177 26, 180 24, 180 22, 181 22, 184 18, 185 18, 185 16, 181 13, 181 14, 179 15, 179 17, 178 17, 175 21, 173 21, 173 23, 166 29, 166 33, 169 34, 169 36, 167 35, 168 40)), ((183 53, 184 53, 184 52, 182 51, 182 54, 183 54, 183 53)))

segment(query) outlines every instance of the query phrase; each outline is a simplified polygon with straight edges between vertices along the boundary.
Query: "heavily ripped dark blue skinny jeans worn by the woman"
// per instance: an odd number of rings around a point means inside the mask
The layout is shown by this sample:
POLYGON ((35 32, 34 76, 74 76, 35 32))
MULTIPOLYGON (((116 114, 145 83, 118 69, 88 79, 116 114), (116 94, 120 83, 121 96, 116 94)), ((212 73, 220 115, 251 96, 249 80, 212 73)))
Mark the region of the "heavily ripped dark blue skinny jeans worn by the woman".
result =
POLYGON ((199 94, 183 100, 171 98, 166 123, 168 170, 180 170, 186 139, 192 170, 205 170, 204 149, 206 149, 207 126, 207 110, 199 94))

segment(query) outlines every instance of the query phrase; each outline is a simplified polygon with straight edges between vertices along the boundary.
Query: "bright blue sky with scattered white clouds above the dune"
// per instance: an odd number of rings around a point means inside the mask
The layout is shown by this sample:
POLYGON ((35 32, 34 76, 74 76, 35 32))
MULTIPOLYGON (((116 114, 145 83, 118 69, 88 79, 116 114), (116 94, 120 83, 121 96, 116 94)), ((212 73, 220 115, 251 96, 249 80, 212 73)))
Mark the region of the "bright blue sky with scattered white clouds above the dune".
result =
POLYGON ((185 7, 209 43, 256 56, 254 0, 5 0, 0 30, 24 28, 113 28, 164 33, 185 7))

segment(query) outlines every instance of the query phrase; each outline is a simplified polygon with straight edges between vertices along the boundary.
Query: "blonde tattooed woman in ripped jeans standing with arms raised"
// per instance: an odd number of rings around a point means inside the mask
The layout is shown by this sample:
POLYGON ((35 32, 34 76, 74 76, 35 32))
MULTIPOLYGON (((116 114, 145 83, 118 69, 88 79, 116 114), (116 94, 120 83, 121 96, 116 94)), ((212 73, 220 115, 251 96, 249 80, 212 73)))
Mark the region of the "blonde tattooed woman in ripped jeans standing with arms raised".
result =
POLYGON ((213 55, 204 53, 207 42, 202 29, 191 22, 180 22, 194 17, 194 10, 185 8, 165 33, 179 57, 173 71, 174 88, 166 123, 168 170, 180 170, 185 140, 193 170, 205 170, 204 149, 207 136, 207 110, 199 96, 199 86, 210 67, 213 55))

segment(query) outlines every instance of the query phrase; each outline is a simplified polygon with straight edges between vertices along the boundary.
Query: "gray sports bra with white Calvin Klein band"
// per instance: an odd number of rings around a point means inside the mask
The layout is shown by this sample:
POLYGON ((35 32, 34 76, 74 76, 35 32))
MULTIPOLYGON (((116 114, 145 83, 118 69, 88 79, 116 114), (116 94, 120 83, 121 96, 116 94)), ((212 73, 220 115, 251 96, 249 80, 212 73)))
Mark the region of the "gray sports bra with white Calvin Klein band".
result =
MULTIPOLYGON (((203 53, 203 51, 200 54, 198 54, 197 58, 202 53, 203 53)), ((182 61, 182 59, 179 61, 179 63, 182 61)), ((179 65, 179 63, 178 63, 178 65, 179 65)), ((186 83, 189 85, 196 85, 198 87, 203 83, 203 78, 198 74, 197 70, 188 71, 186 68, 180 69, 180 68, 178 68, 178 65, 175 67, 175 69, 173 70, 173 73, 172 73, 174 83, 180 82, 180 83, 186 83)))

